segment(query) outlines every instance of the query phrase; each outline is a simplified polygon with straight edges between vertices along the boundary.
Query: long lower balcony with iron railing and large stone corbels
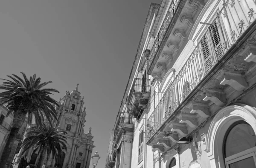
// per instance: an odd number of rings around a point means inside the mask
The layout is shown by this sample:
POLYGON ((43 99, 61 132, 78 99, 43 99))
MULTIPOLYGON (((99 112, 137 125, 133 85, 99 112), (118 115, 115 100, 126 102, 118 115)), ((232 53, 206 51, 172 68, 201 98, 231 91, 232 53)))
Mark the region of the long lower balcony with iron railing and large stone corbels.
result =
POLYGON ((148 145, 166 151, 211 116, 209 105, 227 104, 228 87, 249 87, 256 62, 255 9, 253 0, 226 0, 148 118, 148 145))

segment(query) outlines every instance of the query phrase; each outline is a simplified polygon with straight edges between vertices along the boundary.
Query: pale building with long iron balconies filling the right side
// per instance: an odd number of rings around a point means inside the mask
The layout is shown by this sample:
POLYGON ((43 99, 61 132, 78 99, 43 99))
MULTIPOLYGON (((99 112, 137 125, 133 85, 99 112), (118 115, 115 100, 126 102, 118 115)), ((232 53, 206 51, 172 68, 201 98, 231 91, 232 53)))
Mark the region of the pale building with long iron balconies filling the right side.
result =
POLYGON ((255 0, 151 3, 106 168, 256 167, 255 10, 255 0))

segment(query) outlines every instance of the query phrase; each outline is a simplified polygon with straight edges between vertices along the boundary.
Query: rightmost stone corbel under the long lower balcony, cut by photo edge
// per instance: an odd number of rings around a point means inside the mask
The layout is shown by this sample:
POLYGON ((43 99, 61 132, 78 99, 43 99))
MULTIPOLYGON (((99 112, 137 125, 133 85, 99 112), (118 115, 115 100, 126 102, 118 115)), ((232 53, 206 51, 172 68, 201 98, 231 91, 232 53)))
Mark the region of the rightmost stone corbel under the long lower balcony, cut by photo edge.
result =
POLYGON ((244 50, 240 52, 240 55, 243 56, 246 62, 256 62, 256 46, 255 45, 247 45, 244 50))

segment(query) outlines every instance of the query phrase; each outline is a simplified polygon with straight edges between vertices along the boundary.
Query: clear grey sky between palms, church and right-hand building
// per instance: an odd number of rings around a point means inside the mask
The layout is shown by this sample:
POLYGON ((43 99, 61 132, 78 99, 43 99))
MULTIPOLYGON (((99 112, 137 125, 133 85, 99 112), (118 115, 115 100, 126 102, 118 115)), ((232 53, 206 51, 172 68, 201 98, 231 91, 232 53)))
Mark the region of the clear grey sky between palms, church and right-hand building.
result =
POLYGON ((0 0, 0 78, 35 73, 53 82, 56 100, 79 83, 97 168, 105 167, 151 2, 161 0, 0 0))

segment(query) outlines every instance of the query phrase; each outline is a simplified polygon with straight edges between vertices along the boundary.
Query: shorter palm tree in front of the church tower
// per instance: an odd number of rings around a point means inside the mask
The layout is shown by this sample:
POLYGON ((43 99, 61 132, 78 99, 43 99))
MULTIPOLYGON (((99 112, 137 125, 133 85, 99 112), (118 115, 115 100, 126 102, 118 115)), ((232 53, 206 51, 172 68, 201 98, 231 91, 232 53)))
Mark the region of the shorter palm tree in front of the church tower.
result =
POLYGON ((33 148, 32 153, 38 151, 38 154, 41 154, 38 168, 41 168, 45 154, 47 154, 47 160, 52 156, 52 159, 54 158, 57 161, 62 154, 62 149, 67 151, 67 138, 63 136, 67 132, 59 131, 58 128, 50 126, 49 123, 43 123, 39 129, 37 126, 33 126, 26 134, 26 138, 21 145, 21 147, 24 147, 22 154, 31 147, 33 148))

